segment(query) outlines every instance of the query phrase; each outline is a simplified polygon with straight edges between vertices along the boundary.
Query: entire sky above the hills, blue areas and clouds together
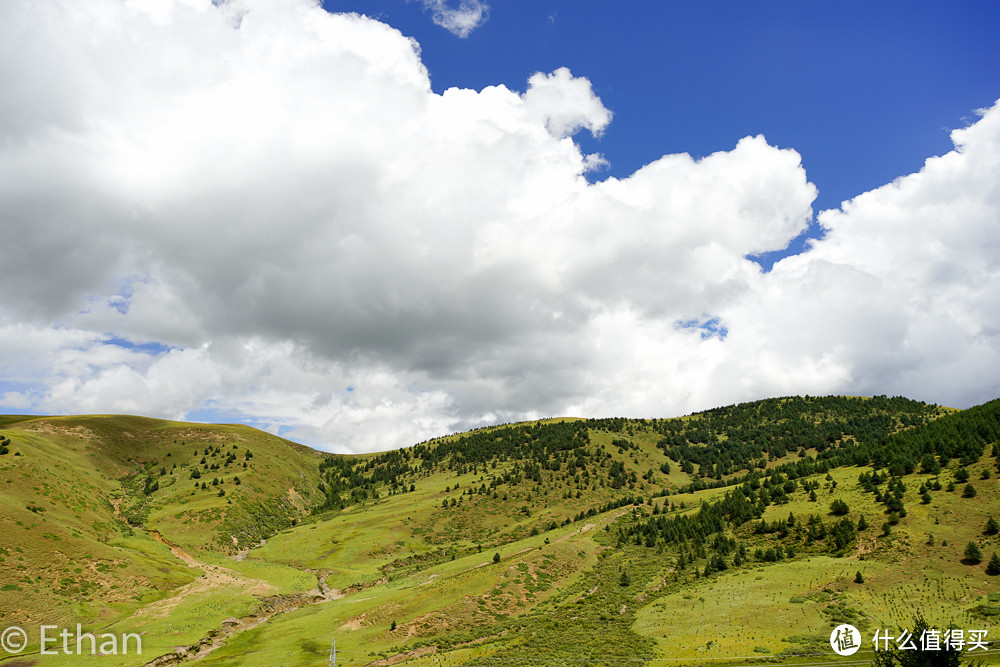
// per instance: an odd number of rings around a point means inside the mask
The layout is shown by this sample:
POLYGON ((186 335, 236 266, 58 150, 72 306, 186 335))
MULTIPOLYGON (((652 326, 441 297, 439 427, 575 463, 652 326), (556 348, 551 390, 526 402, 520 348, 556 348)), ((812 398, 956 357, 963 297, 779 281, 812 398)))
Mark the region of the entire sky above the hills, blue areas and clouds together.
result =
POLYGON ((0 2, 0 412, 360 452, 995 398, 997 25, 995 2, 0 2))

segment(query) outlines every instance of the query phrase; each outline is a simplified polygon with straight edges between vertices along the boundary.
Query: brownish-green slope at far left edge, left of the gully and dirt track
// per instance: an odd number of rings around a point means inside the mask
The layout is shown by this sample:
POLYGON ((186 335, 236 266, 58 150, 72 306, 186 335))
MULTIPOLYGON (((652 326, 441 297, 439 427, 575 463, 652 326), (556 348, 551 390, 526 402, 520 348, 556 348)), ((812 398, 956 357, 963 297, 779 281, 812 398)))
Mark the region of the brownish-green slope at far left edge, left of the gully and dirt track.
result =
POLYGON ((84 428, 32 419, 4 429, 12 453, 0 463, 0 621, 100 622, 194 576, 116 519, 111 500, 123 468, 94 455, 84 428))

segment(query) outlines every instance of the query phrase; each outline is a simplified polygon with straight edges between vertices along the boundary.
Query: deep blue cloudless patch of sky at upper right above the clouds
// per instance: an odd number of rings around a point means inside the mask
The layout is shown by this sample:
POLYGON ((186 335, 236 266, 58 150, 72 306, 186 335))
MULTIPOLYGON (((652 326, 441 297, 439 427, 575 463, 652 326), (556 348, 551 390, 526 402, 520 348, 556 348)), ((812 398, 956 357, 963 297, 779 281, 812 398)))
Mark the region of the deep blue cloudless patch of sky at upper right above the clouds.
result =
MULTIPOLYGON (((452 8, 458 2, 446 3, 452 8)), ((918 171, 1000 90, 1000 4, 982 2, 489 2, 465 38, 415 0, 327 0, 415 38, 434 90, 568 67, 614 112, 577 137, 625 177, 665 153, 747 135, 802 155, 815 208, 918 171)), ((820 230, 813 226, 809 235, 820 230)), ((793 245, 801 249, 801 241, 793 245)), ((768 255, 767 263, 786 253, 768 255)))

